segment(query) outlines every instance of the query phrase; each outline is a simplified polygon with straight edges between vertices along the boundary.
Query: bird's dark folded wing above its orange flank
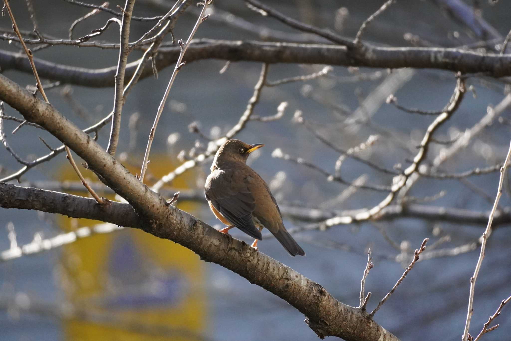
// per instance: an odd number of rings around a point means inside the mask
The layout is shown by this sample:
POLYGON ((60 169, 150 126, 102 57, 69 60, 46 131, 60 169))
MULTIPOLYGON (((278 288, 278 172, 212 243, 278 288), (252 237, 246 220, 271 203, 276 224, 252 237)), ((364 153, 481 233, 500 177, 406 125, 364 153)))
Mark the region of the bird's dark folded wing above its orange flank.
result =
POLYGON ((216 170, 206 181, 204 193, 213 207, 231 224, 247 235, 262 239, 261 232, 252 221, 255 200, 243 179, 233 179, 235 173, 228 174, 216 170))

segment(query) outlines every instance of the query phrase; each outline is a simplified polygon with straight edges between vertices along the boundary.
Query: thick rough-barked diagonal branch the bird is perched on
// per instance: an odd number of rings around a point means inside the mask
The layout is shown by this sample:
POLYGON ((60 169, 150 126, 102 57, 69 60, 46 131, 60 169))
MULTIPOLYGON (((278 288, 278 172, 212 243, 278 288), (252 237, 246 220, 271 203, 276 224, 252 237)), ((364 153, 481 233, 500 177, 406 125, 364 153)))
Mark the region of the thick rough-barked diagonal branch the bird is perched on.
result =
MULTIPOLYGON (((192 215, 167 206, 164 198, 138 181, 53 106, 37 100, 3 75, 0 75, 0 100, 18 110, 27 121, 47 129, 82 157, 89 168, 101 174, 102 180, 131 204, 139 221, 138 226, 142 224, 144 231, 179 243, 197 253, 201 259, 226 267, 250 283, 271 291, 304 313, 309 327, 320 337, 332 335, 345 340, 397 340, 376 322, 365 319, 359 309, 337 301, 321 285, 246 243, 212 229, 192 215)), ((27 194, 26 190, 21 193, 27 194)), ((25 200, 22 197, 24 194, 15 195, 25 200)), ((3 195, 0 200, 5 202, 9 197, 3 195)), ((5 204, 2 203, 2 206, 5 204)), ((65 210, 67 205, 59 207, 54 210, 65 210)), ((74 215, 76 212, 65 214, 74 215)))

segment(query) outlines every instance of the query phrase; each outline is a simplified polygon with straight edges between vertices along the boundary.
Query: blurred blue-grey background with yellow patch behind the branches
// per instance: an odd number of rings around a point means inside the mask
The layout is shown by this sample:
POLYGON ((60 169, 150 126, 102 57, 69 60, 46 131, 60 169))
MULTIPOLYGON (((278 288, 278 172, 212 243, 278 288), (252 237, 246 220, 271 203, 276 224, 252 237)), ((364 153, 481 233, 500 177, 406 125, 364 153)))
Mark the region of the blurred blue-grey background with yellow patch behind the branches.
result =
MULTIPOLYGON (((172 4, 164 0, 138 0, 134 14, 162 15, 172 4)), ((310 25, 354 37, 362 22, 383 1, 296 0, 267 4, 310 25)), ((65 39, 73 21, 91 10, 57 0, 39 0, 33 5, 39 30, 65 39)), ((117 5, 124 3, 111 1, 109 7, 115 9, 117 5)), ((11 2, 11 6, 20 29, 32 30, 25 2, 11 2)), ((208 13, 211 17, 199 27, 195 38, 324 42, 261 16, 242 1, 215 1, 208 13)), ((505 1, 398 1, 371 23, 362 39, 382 46, 461 47, 498 52, 510 29, 509 13, 511 3, 505 1), (456 19, 453 7, 445 7, 450 3, 467 6, 473 20, 456 19), (487 26, 476 19, 485 20, 487 26)), ((191 6, 179 18, 174 30, 176 39, 188 37, 197 15, 198 8, 191 6)), ((80 22, 74 30, 74 39, 102 27, 110 17, 108 13, 98 13, 80 22)), ((132 21, 130 40, 138 39, 152 25, 132 21)), ((11 31, 8 16, 0 18, 0 27, 4 32, 11 31)), ((117 28, 112 26, 98 40, 117 42, 118 35, 117 28)), ((0 41, 0 46, 5 51, 20 51, 19 46, 5 39, 0 41)), ((53 46, 34 54, 58 64, 99 69, 117 65, 119 52, 53 46)), ((129 61, 141 56, 141 51, 134 51, 129 61)), ((262 65, 240 61, 225 66, 225 61, 206 59, 185 65, 177 75, 156 131, 147 184, 154 184, 185 160, 203 152, 208 140, 222 137, 238 122, 262 65), (191 124, 194 129, 190 129, 191 124)), ((313 74, 325 66, 272 64, 267 78, 271 82, 313 74)), ((22 86, 35 83, 29 73, 3 72, 22 86)), ((172 67, 167 67, 159 71, 157 79, 141 80, 124 106, 117 155, 133 173, 140 172, 147 136, 171 72, 172 67)), ((342 167, 336 169, 341 153, 321 142, 315 134, 341 150, 355 148, 351 153, 373 164, 400 171, 410 165, 416 146, 434 116, 404 112, 387 104, 386 98, 394 95, 404 107, 438 111, 448 104, 455 84, 454 74, 447 71, 334 66, 327 75, 312 80, 264 87, 253 115, 275 115, 277 107, 287 102, 283 116, 267 122, 249 121, 236 138, 266 145, 251 155, 249 165, 270 185, 283 212, 296 209, 307 215, 310 209, 317 209, 328 215, 370 208, 387 193, 349 185, 355 181, 388 187, 392 175, 350 157, 341 160, 342 167), (361 146, 368 140, 368 145, 361 146), (289 155, 289 160, 278 157, 284 154, 289 155), (293 162, 297 158, 314 167, 293 162), (341 175, 348 184, 329 181, 328 174, 315 167, 341 175)), ((506 96, 507 79, 471 77, 467 86, 470 89, 459 109, 434 135, 443 143, 431 144, 423 164, 436 165, 437 157, 444 155, 468 129, 476 126, 477 134, 471 135, 466 145, 443 162, 436 169, 438 172, 454 174, 491 167, 505 158, 511 112, 504 109, 488 121, 480 122, 487 118, 487 108, 506 96)), ((113 92, 113 87, 92 88, 86 84, 60 84, 47 90, 50 102, 81 128, 98 122, 111 111, 113 92)), ((20 117, 9 107, 5 115, 20 117)), ((18 124, 5 121, 4 128, 9 144, 25 160, 32 161, 48 153, 37 136, 53 148, 60 145, 48 133, 30 126, 10 134, 18 124)), ((105 147, 108 135, 109 125, 99 132, 99 142, 105 147)), ((178 175, 162 191, 171 193, 169 196, 174 190, 188 193, 179 199, 177 206, 218 229, 222 226, 202 197, 210 166, 211 160, 206 160, 178 175)), ((21 167, 7 150, 0 149, 0 178, 21 167)), ((94 174, 84 174, 91 183, 98 183, 94 174)), ((492 208, 498 179, 498 167, 494 172, 477 176, 419 177, 400 200, 421 207, 463 209, 467 211, 459 212, 467 214, 486 212, 492 208)), ((87 195, 80 186, 71 186, 77 179, 64 154, 31 169, 20 180, 24 186, 38 184, 36 187, 87 195)), ((502 210, 511 204, 507 180, 504 187, 499 207, 502 210)), ((113 199, 111 192, 104 188, 98 192, 113 199)), ((316 222, 285 212, 288 230, 316 222)), ((302 314, 237 274, 202 262, 197 255, 171 241, 98 223, 36 211, 0 211, 2 340, 316 339, 302 314), (73 237, 66 233, 83 226, 95 232, 115 231, 69 242, 73 237), (48 252, 8 257, 9 250, 16 246, 37 245, 47 239, 55 244, 48 252), (64 245, 58 247, 59 243, 64 245)), ((373 293, 368 304, 368 309, 373 309, 402 275, 413 250, 424 238, 429 238, 424 261, 416 264, 376 313, 375 320, 402 340, 459 340, 466 319, 469 279, 479 256, 478 238, 484 228, 485 223, 481 221, 460 222, 440 215, 396 217, 338 225, 326 231, 296 232, 293 237, 305 249, 305 258, 289 257, 271 238, 262 241, 259 249, 320 283, 341 302, 358 306, 360 279, 370 247, 375 267, 367 278, 366 290, 373 293)), ((251 242, 241 231, 231 231, 234 237, 251 242)), ((510 238, 509 223, 501 224, 487 244, 475 292, 473 335, 477 335, 488 316, 511 293, 510 238)), ((510 309, 504 307, 495 321, 500 327, 484 335, 485 340, 509 338, 510 309)))

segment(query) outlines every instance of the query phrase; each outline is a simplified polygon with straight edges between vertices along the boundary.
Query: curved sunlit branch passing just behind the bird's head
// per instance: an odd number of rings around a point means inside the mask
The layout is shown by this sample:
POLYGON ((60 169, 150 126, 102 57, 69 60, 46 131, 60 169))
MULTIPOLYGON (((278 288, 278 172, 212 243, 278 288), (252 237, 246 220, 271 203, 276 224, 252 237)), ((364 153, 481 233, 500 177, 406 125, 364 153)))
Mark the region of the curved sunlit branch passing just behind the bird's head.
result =
POLYGON ((247 107, 245 111, 243 112, 243 115, 241 115, 240 119, 238 120, 238 123, 230 128, 229 131, 225 134, 224 137, 217 139, 216 141, 208 144, 208 149, 196 157, 193 158, 193 160, 189 160, 187 162, 184 162, 181 166, 177 167, 167 175, 163 176, 161 179, 156 181, 156 183, 151 187, 151 190, 158 192, 161 187, 173 179, 176 178, 176 176, 184 173, 185 171, 196 167, 197 165, 200 165, 203 163, 208 157, 215 155, 218 148, 227 140, 232 139, 235 137, 237 133, 239 133, 245 125, 248 123, 252 116, 253 109, 255 105, 259 103, 259 99, 261 98, 261 92, 264 87, 264 84, 266 82, 266 77, 268 75, 268 65, 263 64, 261 67, 261 73, 259 76, 258 82, 254 86, 254 91, 252 93, 252 97, 248 100, 247 107))

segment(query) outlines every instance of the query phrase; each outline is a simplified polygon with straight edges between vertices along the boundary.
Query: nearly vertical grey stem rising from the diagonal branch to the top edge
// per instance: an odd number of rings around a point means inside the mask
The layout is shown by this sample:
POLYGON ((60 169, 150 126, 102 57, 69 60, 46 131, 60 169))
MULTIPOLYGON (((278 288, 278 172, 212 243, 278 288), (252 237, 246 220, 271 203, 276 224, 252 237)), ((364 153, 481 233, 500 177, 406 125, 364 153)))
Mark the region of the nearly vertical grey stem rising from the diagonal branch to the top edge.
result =
POLYGON ((115 156, 117 144, 119 142, 119 132, 121 130, 121 112, 124 105, 124 75, 126 73, 126 64, 128 63, 128 55, 131 51, 129 48, 129 30, 131 24, 131 13, 135 0, 126 0, 123 10, 123 20, 121 22, 121 47, 119 48, 119 61, 117 64, 117 72, 115 73, 115 91, 113 97, 113 118, 110 129, 110 138, 108 139, 108 147, 106 151, 115 156))

